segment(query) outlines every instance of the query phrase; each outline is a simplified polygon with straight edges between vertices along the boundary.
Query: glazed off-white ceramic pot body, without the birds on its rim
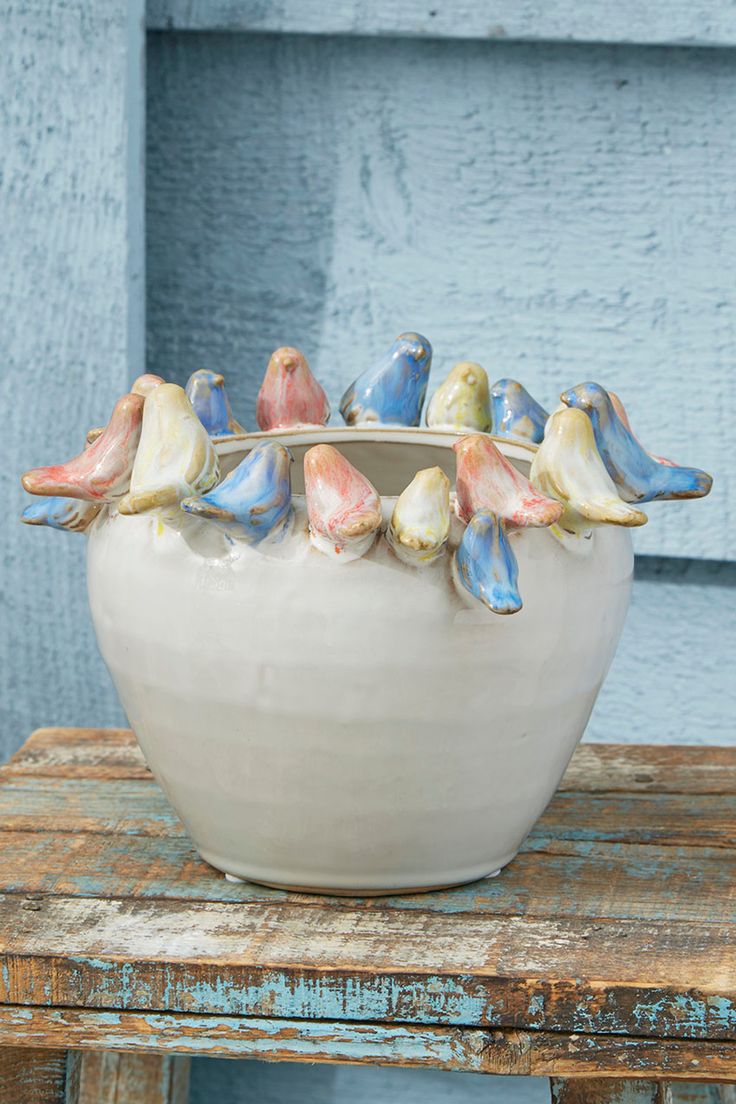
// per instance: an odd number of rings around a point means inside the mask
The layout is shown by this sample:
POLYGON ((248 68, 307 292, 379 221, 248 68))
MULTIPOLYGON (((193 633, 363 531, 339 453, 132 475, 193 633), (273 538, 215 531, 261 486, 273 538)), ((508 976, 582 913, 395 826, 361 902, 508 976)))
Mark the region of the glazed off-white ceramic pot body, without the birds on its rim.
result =
MULTIPOLYGON (((458 593, 447 555, 401 563, 381 537, 338 564, 311 548, 305 450, 337 445, 392 509, 415 473, 454 477, 459 435, 287 431, 296 530, 254 549, 179 509, 90 527, 97 639, 153 774, 204 859, 332 893, 470 881, 519 850, 614 657, 628 531, 561 545, 513 533, 523 609, 458 593)), ((224 438, 231 470, 263 434, 224 438)), ((497 439, 527 474, 531 452, 497 439)), ((457 543, 458 534, 451 538, 457 543)))

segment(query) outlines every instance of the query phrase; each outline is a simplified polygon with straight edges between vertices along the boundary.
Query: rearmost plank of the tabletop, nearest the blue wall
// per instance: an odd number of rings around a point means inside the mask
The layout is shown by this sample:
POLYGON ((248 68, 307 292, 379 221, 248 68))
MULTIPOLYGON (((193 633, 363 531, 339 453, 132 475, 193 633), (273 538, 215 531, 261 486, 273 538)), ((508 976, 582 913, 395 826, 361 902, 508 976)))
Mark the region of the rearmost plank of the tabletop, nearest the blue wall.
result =
MULTIPOLYGON (((0 778, 150 778, 129 729, 38 729, 0 778)), ((736 794, 736 747, 580 744, 561 783, 578 793, 736 794)))

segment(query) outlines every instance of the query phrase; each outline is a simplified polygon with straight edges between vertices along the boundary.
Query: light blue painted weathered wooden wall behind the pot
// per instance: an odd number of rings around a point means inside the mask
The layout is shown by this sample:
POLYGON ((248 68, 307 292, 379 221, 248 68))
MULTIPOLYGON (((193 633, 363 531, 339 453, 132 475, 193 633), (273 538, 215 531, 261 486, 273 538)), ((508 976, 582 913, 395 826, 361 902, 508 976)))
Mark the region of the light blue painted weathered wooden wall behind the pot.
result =
MULTIPOLYGON (((142 14, 3 14, 0 757, 38 724, 121 721, 83 540, 13 514, 18 474, 74 452, 143 362, 142 14)), ((302 346, 337 400, 409 327, 435 382, 460 357, 547 403, 607 382, 652 448, 716 485, 638 534, 588 735, 732 741, 736 70, 729 49, 682 47, 736 44, 733 11, 149 0, 148 23, 150 368, 223 369, 249 424, 274 346, 302 346)), ((193 1086, 196 1104, 546 1098, 255 1063, 195 1063, 193 1086)))

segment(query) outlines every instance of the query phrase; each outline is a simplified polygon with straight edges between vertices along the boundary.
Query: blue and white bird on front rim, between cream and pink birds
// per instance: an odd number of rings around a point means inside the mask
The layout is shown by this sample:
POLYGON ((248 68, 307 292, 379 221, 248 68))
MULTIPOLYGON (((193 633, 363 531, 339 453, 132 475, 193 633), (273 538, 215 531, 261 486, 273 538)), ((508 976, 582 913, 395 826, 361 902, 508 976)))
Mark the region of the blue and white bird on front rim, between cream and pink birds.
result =
POLYGON ((236 521, 248 540, 258 544, 280 532, 291 512, 291 453, 277 440, 264 440, 223 479, 201 497, 185 498, 188 513, 213 521, 236 521))

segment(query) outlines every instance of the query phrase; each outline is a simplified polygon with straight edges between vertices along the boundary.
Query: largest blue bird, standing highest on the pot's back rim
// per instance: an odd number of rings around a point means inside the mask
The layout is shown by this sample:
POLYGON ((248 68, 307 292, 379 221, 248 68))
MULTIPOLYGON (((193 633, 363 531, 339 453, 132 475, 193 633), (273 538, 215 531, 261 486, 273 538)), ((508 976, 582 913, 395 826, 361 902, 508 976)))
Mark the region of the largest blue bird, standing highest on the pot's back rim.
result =
POLYGON ((431 367, 431 346, 402 333, 388 352, 352 383, 340 403, 348 425, 418 425, 431 367))

